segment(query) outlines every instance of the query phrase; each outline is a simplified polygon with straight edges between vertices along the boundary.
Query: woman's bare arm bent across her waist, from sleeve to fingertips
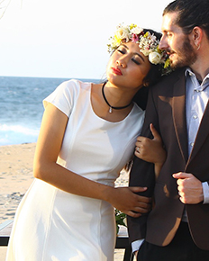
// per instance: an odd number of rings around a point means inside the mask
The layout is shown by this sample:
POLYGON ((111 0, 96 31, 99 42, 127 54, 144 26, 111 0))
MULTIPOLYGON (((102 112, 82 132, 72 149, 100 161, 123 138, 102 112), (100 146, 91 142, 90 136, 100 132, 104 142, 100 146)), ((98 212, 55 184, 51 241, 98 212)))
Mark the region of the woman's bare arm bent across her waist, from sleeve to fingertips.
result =
POLYGON ((132 217, 139 217, 140 213, 147 212, 150 209, 150 198, 136 194, 146 188, 114 188, 99 184, 57 164, 67 123, 67 115, 49 103, 43 114, 35 151, 34 176, 68 193, 110 202, 132 217))

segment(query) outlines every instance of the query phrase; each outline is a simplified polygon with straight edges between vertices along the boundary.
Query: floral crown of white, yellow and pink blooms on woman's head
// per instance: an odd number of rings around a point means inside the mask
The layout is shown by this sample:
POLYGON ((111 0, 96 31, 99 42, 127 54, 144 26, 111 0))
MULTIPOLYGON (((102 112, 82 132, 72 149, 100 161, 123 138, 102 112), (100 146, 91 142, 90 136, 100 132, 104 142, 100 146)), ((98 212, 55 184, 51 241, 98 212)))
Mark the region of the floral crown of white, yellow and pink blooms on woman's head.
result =
POLYGON ((108 51, 112 52, 117 49, 123 41, 139 43, 139 47, 144 56, 148 56, 150 63, 161 64, 163 67, 163 73, 167 74, 170 71, 169 58, 165 50, 159 49, 159 40, 157 37, 150 33, 145 32, 141 27, 136 24, 126 25, 119 24, 114 37, 110 38, 111 43, 108 44, 108 51))

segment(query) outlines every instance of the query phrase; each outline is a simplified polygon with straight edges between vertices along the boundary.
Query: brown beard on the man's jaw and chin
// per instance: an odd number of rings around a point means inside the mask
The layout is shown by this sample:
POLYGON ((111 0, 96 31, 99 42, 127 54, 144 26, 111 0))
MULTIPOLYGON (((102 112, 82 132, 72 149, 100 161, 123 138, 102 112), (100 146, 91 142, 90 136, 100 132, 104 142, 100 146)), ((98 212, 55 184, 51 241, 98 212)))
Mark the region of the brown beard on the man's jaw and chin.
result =
POLYGON ((184 41, 182 47, 177 51, 177 59, 170 60, 170 67, 176 69, 178 67, 190 67, 196 61, 197 55, 192 47, 188 37, 184 41))

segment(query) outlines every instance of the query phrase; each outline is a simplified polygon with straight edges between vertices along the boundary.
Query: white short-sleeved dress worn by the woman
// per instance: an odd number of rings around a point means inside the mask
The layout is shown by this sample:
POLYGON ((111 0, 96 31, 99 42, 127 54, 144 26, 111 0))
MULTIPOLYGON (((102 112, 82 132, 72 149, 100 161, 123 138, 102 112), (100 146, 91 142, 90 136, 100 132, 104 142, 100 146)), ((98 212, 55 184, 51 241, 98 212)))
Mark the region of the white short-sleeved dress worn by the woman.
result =
MULTIPOLYGON (((99 118, 91 83, 64 82, 43 102, 68 115, 58 162, 78 175, 114 186, 132 157, 144 112, 136 104, 119 122, 99 118)), ((58 173, 59 175, 59 173, 58 173)), ((14 218, 7 261, 113 261, 114 208, 35 179, 14 218)))

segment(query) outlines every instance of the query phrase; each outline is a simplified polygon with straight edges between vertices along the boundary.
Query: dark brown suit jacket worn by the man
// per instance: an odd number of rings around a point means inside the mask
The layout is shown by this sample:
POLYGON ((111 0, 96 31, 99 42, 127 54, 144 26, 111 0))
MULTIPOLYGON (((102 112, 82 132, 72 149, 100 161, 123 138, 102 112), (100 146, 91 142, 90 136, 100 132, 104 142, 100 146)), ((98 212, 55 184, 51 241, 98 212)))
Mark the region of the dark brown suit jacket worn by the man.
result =
POLYGON ((209 104, 188 157, 185 94, 185 69, 177 70, 150 88, 141 136, 151 138, 150 123, 153 123, 168 156, 157 181, 153 164, 134 158, 130 185, 148 186, 148 191, 141 195, 154 195, 155 205, 149 215, 138 219, 128 217, 129 235, 131 241, 146 238, 152 244, 166 246, 174 238, 186 207, 195 244, 209 250, 209 204, 180 202, 177 181, 172 177, 183 171, 192 173, 202 182, 209 181, 209 104))

